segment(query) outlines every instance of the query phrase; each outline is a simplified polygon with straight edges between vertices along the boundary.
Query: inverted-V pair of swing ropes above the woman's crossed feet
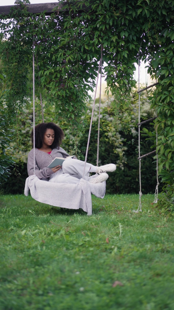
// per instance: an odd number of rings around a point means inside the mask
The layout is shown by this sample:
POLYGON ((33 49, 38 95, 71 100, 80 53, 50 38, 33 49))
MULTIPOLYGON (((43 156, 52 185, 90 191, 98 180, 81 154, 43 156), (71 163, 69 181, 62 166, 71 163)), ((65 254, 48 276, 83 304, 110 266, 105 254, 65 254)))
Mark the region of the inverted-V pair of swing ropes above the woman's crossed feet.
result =
MULTIPOLYGON (((94 106, 95 106, 95 99, 96 99, 97 85, 98 85, 98 77, 99 77, 100 68, 102 68, 102 51, 103 51, 103 46, 101 47, 101 58, 100 58, 99 65, 98 65, 97 82, 96 82, 96 88, 95 88, 93 109, 92 109, 92 114, 91 114, 91 122, 90 122, 90 127, 89 127, 89 136, 88 136, 88 143, 87 143, 86 155, 85 155, 85 165, 84 165, 84 171, 83 171, 83 179, 84 179, 84 176, 85 176, 86 161, 87 161, 87 156, 88 156, 89 140, 90 140, 91 128, 92 128, 92 122, 93 122, 94 106)), ((100 113, 100 105, 101 105, 101 85, 102 85, 102 69, 101 69, 101 76, 100 76, 99 113, 100 113)), ((100 114, 98 114, 97 166, 98 166, 98 157, 99 157, 99 132, 100 132, 100 114)))

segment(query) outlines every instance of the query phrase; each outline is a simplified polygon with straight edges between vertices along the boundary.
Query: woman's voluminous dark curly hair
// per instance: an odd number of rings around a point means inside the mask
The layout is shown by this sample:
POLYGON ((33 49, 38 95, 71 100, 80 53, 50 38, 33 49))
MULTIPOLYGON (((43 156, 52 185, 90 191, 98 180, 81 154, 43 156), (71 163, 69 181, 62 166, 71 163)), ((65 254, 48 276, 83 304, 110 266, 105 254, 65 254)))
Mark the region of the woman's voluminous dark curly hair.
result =
MULTIPOLYGON (((62 139, 64 138, 63 130, 57 126, 54 123, 41 123, 35 126, 35 148, 41 148, 44 140, 44 135, 46 133, 47 129, 53 129, 54 130, 54 141, 53 144, 50 145, 50 148, 53 150, 53 148, 59 149, 60 144, 62 143, 62 139)), ((31 141, 32 141, 32 147, 33 147, 33 130, 31 133, 31 141)))

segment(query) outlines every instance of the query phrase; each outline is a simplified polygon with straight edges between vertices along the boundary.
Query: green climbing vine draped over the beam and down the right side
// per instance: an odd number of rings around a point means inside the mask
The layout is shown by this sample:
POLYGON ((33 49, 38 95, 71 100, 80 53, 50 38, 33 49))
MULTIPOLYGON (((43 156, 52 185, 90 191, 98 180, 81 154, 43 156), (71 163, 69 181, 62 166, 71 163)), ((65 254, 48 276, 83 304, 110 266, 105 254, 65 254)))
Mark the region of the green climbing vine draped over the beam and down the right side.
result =
MULTIPOLYGON (((59 116, 69 120, 72 128, 81 131, 88 90, 92 89, 98 69, 101 45, 107 64, 108 90, 115 100, 115 117, 120 107, 129 109, 134 63, 145 60, 151 77, 158 79, 151 106, 158 118, 159 173, 174 191, 174 2, 173 0, 84 0, 60 1, 66 10, 30 16, 18 0, 11 20, 1 16, 0 53, 7 77, 3 100, 9 114, 17 113, 28 98, 28 72, 32 68, 34 40, 36 95, 39 92, 46 106, 55 106, 59 116), (140 48, 141 47, 141 48, 140 48), (39 86, 40 76, 41 86, 39 86), (118 108, 119 107, 119 108, 118 108)), ((107 90, 106 90, 107 91, 107 90)), ((147 133, 147 132, 146 132, 147 133)), ((148 133, 147 133, 148 134, 148 133)), ((155 131, 151 135, 155 137, 155 131)))

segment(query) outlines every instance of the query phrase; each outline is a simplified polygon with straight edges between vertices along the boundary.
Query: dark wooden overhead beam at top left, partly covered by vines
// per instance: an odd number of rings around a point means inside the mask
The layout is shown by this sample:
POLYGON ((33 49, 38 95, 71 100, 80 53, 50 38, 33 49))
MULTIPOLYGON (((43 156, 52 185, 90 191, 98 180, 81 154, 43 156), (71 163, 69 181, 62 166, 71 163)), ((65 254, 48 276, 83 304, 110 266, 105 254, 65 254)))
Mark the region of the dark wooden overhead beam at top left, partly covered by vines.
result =
MULTIPOLYGON (((8 17, 10 17, 11 8, 15 7, 16 5, 0 6, 0 14, 8 15, 8 17)), ((26 4, 25 7, 27 7, 29 13, 33 14, 39 14, 46 11, 46 15, 50 15, 53 13, 54 7, 58 7, 58 11, 68 11, 68 9, 63 9, 63 5, 59 5, 59 2, 26 4)))

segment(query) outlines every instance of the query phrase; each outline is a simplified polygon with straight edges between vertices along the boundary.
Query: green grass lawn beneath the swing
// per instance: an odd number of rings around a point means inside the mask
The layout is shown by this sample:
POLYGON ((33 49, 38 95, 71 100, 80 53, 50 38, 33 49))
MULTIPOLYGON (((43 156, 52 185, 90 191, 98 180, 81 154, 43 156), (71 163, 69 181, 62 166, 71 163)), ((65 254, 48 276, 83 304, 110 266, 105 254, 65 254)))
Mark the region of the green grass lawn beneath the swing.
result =
POLYGON ((93 196, 87 216, 1 196, 0 309, 173 310, 173 217, 153 200, 93 196))

